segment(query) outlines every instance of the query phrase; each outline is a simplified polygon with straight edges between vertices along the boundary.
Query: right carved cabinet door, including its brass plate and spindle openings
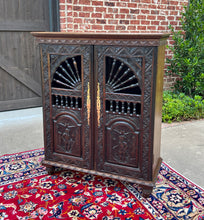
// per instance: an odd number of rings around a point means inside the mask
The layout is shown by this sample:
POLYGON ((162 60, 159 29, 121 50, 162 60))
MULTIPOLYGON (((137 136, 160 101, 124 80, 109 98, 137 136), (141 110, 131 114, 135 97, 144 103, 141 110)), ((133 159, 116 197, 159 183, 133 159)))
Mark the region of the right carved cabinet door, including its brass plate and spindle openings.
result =
POLYGON ((151 93, 155 49, 95 46, 96 170, 151 178, 151 93))

